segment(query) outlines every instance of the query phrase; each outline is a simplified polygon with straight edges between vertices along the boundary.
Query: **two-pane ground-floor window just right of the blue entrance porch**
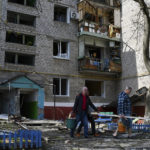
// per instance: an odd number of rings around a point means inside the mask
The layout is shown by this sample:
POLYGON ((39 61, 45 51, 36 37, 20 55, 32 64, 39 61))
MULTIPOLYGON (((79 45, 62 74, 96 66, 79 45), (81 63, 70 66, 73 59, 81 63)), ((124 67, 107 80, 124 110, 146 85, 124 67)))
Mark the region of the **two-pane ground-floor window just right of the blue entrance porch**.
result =
POLYGON ((54 78, 53 79, 53 94, 58 96, 69 95, 68 79, 54 78))

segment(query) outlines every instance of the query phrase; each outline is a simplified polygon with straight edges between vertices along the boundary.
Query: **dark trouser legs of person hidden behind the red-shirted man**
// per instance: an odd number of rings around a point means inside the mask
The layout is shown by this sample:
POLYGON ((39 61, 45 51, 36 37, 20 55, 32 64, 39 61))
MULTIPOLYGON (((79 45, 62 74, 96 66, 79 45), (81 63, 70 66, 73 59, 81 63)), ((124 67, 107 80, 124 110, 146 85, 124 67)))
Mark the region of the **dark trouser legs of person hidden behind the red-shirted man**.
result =
MULTIPOLYGON (((88 117, 88 121, 91 123, 92 134, 94 135, 95 134, 95 121, 94 121, 94 118, 91 115, 88 115, 87 117, 88 117)), ((83 127, 83 124, 81 122, 79 128, 77 129, 77 133, 81 132, 82 127, 83 127)))

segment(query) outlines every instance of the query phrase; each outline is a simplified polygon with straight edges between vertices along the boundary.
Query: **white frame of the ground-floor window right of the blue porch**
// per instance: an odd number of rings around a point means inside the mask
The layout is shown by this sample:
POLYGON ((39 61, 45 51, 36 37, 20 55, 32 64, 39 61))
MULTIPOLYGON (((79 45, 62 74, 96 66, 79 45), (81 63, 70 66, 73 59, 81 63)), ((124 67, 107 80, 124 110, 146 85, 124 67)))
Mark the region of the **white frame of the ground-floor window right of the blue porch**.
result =
MULTIPOLYGON (((56 78, 53 78, 53 82, 54 82, 54 79, 59 79, 59 95, 55 94, 55 96, 57 96, 57 97, 69 97, 70 96, 70 82, 69 82, 69 79, 68 78, 57 78, 56 77, 56 78), (67 90, 67 94, 66 95, 62 95, 62 93, 61 93, 62 92, 61 91, 61 88, 62 88, 61 87, 61 82, 62 82, 61 80, 62 79, 65 79, 67 81, 67 84, 66 84, 67 85, 67 87, 66 87, 67 88, 66 89, 67 90)), ((54 91, 54 86, 56 86, 56 85, 53 85, 53 91, 54 91)), ((53 92, 53 96, 54 96, 54 92, 53 92)))

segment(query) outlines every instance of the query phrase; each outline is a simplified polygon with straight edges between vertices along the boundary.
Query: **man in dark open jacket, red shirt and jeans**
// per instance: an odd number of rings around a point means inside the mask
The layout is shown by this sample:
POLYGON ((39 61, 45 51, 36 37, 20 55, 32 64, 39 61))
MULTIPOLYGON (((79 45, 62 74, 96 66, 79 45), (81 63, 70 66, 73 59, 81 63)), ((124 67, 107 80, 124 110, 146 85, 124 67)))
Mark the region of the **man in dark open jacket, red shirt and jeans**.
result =
POLYGON ((77 124, 81 121, 81 123, 84 126, 84 137, 88 138, 88 112, 89 112, 89 106, 91 106, 94 110, 97 111, 97 108, 93 105, 91 102, 89 96, 88 96, 88 88, 83 87, 82 93, 79 94, 74 103, 73 107, 73 113, 76 114, 76 124, 73 129, 71 129, 71 137, 74 137, 74 131, 76 129, 77 124))

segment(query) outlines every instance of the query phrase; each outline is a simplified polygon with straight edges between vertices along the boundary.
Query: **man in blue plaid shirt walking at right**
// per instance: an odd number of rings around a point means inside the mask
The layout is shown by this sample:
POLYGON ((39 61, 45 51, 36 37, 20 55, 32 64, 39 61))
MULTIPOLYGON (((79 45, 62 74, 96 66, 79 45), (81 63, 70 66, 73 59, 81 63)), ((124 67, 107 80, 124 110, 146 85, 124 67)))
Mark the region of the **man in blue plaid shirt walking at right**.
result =
MULTIPOLYGON (((126 89, 119 94, 118 98, 118 115, 120 115, 120 122, 126 127, 128 130, 128 137, 131 137, 132 134, 132 119, 126 118, 125 116, 131 116, 131 101, 129 98, 129 94, 131 93, 132 88, 126 87, 126 89)), ((118 134, 118 129, 113 134, 116 137, 118 134)))

